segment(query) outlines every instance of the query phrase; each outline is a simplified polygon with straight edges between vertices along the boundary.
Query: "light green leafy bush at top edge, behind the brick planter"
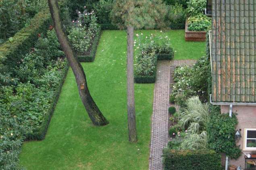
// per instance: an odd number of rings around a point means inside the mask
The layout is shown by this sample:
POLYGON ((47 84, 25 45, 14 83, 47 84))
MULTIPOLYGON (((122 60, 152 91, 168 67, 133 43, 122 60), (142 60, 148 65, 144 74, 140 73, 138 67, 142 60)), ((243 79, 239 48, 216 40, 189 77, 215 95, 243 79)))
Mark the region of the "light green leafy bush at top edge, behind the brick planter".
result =
POLYGON ((190 16, 203 13, 206 8, 206 0, 189 0, 187 2, 187 13, 190 16))

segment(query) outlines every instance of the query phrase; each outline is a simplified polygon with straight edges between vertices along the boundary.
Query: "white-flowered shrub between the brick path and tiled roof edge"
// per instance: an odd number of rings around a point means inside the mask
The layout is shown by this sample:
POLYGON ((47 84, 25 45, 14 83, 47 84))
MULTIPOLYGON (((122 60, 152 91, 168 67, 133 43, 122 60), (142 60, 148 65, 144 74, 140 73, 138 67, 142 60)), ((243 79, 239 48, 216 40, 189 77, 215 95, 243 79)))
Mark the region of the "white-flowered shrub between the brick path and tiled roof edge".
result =
POLYGON ((207 57, 201 57, 193 67, 177 67, 173 72, 175 84, 171 94, 175 97, 175 103, 183 106, 192 96, 199 96, 203 102, 208 101, 210 76, 210 61, 207 57))

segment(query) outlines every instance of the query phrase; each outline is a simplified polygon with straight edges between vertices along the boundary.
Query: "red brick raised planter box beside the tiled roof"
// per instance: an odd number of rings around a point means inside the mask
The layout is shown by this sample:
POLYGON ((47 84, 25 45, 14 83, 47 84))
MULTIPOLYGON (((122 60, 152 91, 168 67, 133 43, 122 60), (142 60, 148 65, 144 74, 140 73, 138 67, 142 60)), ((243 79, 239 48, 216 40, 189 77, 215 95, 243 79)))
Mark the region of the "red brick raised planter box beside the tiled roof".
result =
POLYGON ((186 41, 205 41, 206 31, 189 31, 187 26, 187 20, 186 20, 185 40, 186 41))

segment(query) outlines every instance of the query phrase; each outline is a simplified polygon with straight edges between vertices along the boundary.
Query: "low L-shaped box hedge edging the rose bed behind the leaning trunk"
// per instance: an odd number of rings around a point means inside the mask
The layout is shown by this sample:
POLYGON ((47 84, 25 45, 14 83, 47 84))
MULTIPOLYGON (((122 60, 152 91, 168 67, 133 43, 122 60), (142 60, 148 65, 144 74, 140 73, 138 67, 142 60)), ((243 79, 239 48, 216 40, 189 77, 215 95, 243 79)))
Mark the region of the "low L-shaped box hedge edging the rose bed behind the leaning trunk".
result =
POLYGON ((92 61, 94 61, 95 56, 96 56, 97 46, 98 46, 98 43, 100 41, 100 33, 101 33, 101 27, 98 30, 98 32, 97 32, 97 34, 96 34, 96 36, 94 38, 90 54, 89 55, 78 55, 77 56, 78 60, 80 62, 92 62, 92 61))

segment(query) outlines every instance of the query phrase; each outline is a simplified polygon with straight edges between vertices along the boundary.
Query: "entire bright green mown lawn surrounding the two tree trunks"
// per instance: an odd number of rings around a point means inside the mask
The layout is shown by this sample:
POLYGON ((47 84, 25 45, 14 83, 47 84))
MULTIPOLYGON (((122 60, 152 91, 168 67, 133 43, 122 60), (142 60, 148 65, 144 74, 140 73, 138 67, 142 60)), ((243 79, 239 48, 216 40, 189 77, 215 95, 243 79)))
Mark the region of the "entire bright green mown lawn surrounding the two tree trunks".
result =
MULTIPOLYGON (((141 32, 141 31, 137 31, 141 32)), ((143 30, 144 34, 154 30, 143 30)), ((184 30, 169 31, 175 59, 197 59, 204 42, 185 42, 184 30)), ((90 92, 110 124, 93 126, 69 73, 45 140, 24 142, 21 164, 28 170, 146 170, 154 84, 135 85, 138 142, 128 142, 126 33, 104 31, 93 63, 82 63, 90 92)))

